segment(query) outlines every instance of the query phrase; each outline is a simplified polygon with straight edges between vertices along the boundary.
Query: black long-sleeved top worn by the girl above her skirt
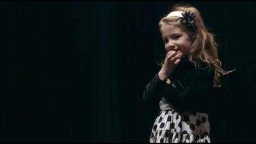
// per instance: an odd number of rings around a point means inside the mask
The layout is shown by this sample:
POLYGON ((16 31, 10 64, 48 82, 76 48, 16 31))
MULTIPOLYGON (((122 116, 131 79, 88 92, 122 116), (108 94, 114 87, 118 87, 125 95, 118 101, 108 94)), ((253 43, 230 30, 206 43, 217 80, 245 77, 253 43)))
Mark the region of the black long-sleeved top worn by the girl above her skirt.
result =
POLYGON ((182 60, 168 77, 172 84, 161 81, 158 74, 147 84, 143 92, 145 102, 159 102, 164 97, 180 112, 208 113, 209 97, 213 90, 214 67, 203 61, 199 68, 188 60, 182 60))

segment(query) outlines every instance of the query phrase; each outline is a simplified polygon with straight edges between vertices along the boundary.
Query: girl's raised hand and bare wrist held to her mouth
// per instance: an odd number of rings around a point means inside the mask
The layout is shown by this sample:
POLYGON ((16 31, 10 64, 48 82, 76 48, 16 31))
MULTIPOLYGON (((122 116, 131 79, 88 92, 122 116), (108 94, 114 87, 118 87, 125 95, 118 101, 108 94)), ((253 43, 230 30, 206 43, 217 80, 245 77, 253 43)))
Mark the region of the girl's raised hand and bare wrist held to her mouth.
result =
POLYGON ((164 64, 159 71, 158 75, 161 80, 166 80, 167 77, 173 72, 176 65, 180 62, 182 53, 180 51, 169 51, 166 54, 164 64))

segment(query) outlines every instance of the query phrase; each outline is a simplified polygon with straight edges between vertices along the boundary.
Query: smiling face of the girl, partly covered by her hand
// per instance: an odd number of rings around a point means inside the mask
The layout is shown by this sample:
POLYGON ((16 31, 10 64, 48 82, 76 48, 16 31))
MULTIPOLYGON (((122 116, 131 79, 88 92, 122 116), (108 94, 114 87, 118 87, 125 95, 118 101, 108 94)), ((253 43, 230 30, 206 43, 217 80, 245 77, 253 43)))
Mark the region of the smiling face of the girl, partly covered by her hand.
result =
POLYGON ((160 31, 167 52, 176 51, 180 52, 182 57, 188 56, 193 44, 188 33, 174 24, 163 24, 160 31))

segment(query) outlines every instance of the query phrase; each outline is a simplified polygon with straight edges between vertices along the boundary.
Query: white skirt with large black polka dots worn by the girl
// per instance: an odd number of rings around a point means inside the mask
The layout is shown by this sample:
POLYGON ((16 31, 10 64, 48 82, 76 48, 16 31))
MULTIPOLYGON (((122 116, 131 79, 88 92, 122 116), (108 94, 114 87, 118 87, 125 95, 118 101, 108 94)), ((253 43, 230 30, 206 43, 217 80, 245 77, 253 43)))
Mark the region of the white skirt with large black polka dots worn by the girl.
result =
POLYGON ((160 102, 150 143, 210 143, 210 123, 206 113, 177 113, 166 100, 160 102))

